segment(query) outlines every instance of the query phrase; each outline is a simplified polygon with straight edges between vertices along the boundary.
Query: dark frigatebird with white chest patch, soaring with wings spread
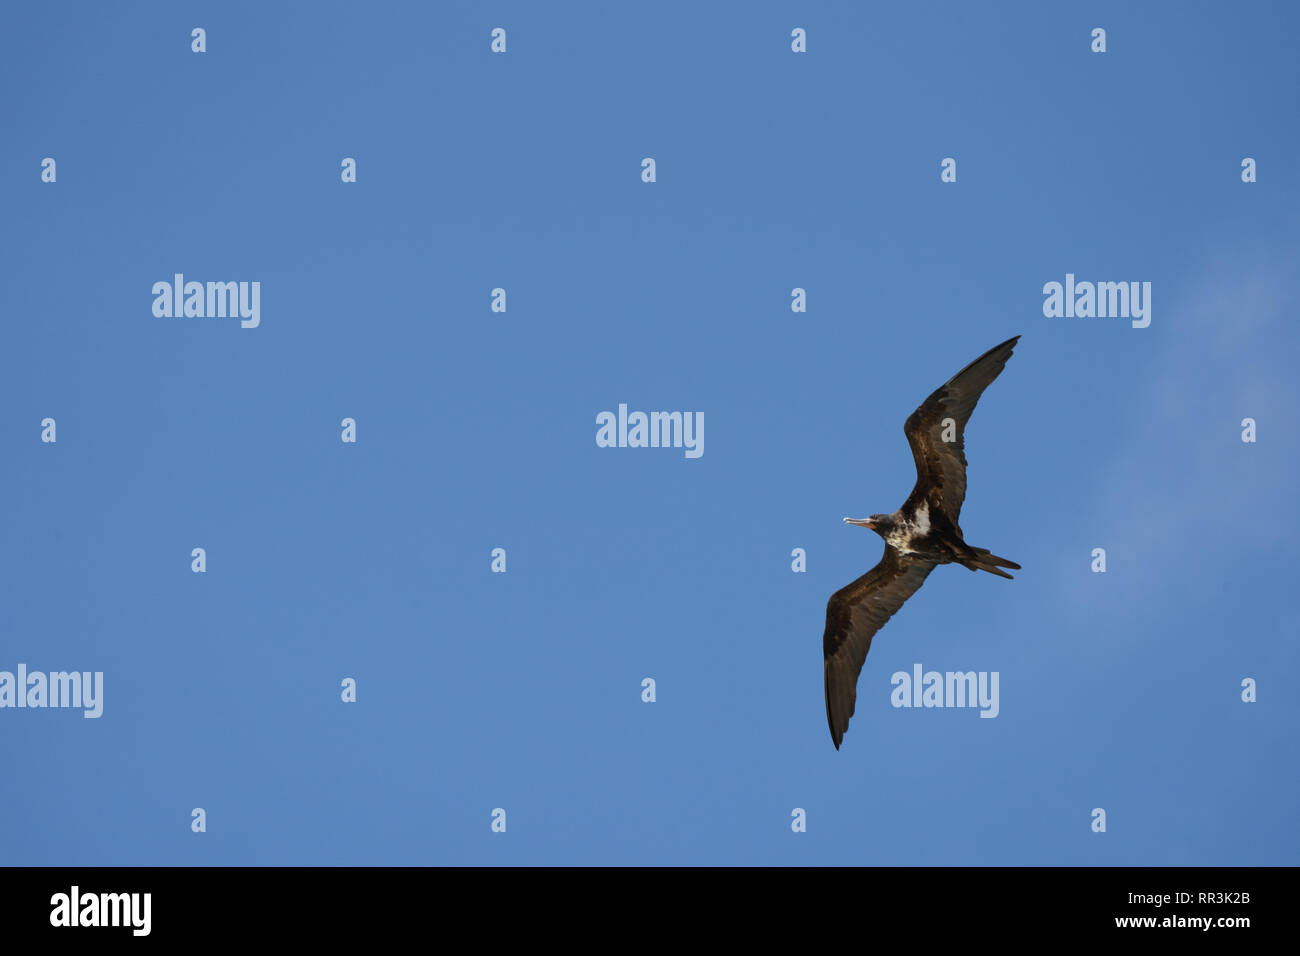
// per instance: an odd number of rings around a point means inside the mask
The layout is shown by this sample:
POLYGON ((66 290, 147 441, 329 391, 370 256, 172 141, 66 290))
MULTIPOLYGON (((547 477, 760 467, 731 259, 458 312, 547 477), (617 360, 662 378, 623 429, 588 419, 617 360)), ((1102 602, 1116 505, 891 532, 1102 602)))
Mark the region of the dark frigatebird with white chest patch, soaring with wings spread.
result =
POLYGON ((831 594, 826 605, 826 719, 840 749, 858 698, 858 674, 871 639, 926 583, 936 564, 957 562, 971 571, 1010 578, 1019 564, 962 538, 957 519, 966 498, 966 423, 997 376, 1019 336, 989 349, 939 386, 904 424, 916 462, 916 485, 892 515, 845 518, 885 540, 880 563, 831 594))

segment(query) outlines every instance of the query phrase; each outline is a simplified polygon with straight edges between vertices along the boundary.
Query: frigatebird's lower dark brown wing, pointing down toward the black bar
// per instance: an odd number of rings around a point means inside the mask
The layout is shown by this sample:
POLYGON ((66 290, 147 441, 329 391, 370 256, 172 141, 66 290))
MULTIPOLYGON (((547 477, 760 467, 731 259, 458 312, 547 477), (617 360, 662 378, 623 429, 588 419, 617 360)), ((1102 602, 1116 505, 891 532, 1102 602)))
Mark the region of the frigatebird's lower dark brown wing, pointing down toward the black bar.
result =
POLYGON ((880 563, 862 578, 831 594, 826 605, 826 719, 840 749, 858 700, 858 674, 867 659, 871 639, 916 593, 935 563, 901 554, 890 545, 880 563))

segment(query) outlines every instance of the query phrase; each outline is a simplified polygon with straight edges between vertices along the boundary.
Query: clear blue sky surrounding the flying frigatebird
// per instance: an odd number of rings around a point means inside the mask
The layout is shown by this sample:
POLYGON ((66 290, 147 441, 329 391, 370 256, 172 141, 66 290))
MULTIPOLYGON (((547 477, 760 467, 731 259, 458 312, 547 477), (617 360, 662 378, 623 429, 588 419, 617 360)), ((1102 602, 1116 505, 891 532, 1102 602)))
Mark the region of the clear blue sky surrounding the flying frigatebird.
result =
POLYGON ((1296 864, 1300 23, 1132 7, 10 10, 0 670, 104 713, 0 709, 0 861, 1296 864), (836 752, 840 519, 1014 334, 962 527, 1023 571, 936 570, 836 752), (597 447, 620 402, 705 454, 597 447))

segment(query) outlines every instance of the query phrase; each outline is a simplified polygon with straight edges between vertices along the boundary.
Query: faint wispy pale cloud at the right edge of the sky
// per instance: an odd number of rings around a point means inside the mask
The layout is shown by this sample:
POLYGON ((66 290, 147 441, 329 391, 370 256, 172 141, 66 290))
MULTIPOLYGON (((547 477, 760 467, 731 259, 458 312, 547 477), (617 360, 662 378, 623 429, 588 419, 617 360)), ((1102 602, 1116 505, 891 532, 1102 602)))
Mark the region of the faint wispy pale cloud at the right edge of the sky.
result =
MULTIPOLYGON (((1122 533, 1123 564, 1152 568, 1208 554, 1260 559, 1292 537, 1297 261, 1300 255, 1275 254, 1222 259, 1171 297, 1165 347, 1131 390, 1134 428, 1092 503, 1106 537, 1122 533), (1247 416, 1258 423, 1254 445, 1240 440, 1247 416)), ((1076 579, 1060 584, 1063 594, 1088 600, 1076 579)), ((1140 587, 1186 589, 1187 579, 1144 575, 1140 587)))

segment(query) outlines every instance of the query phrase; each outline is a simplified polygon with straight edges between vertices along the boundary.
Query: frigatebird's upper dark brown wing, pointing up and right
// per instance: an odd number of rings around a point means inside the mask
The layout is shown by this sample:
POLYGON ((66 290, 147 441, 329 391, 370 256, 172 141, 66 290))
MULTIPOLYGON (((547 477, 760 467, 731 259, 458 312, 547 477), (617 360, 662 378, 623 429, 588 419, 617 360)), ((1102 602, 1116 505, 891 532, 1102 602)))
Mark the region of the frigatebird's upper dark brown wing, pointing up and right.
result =
POLYGON ((902 427, 916 462, 916 485, 904 507, 915 510, 926 502, 930 514, 942 511, 958 535, 957 519, 966 499, 966 423, 984 389, 1011 358, 1019 338, 993 346, 935 389, 902 427))

